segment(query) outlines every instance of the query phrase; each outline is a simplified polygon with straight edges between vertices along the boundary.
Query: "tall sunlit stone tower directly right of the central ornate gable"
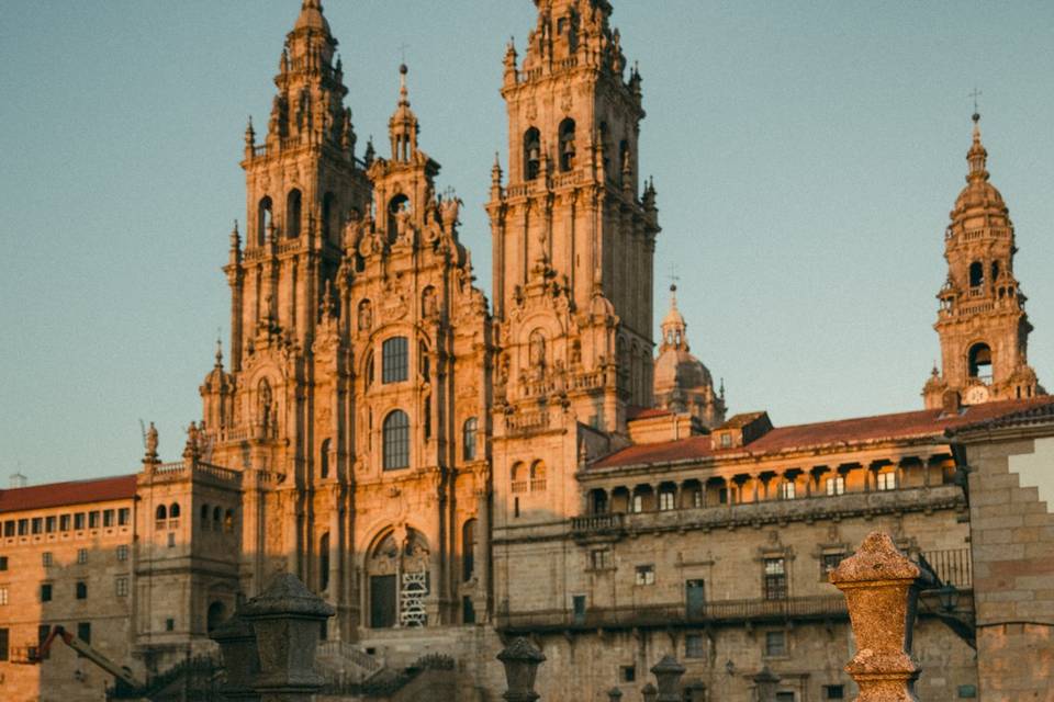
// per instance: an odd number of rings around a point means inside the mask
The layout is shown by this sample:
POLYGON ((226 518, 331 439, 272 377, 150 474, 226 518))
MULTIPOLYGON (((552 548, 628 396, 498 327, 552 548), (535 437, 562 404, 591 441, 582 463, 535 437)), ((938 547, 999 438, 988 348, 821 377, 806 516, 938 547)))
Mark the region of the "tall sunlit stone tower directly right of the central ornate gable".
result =
POLYGON ((495 520, 578 510, 580 461, 651 406, 655 192, 641 188, 641 78, 607 0, 535 0, 502 97, 508 173, 492 172, 495 520))

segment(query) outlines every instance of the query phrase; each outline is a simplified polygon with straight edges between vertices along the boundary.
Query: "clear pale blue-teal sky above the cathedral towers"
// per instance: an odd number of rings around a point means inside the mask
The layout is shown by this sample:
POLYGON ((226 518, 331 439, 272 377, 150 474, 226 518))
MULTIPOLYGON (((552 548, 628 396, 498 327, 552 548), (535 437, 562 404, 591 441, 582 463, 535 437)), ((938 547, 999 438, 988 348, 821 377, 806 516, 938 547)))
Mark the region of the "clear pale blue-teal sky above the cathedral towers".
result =
MULTIPOLYGON (((355 127, 380 144, 400 46, 422 147, 482 204, 505 43, 529 0, 324 0, 355 127)), ((1054 385, 1054 3, 614 0, 644 78, 641 166, 693 351, 732 411, 777 426, 921 407, 948 212, 982 91, 1017 225, 1030 361, 1054 385)), ((134 472, 138 420, 176 460, 201 414, 220 270, 245 218, 246 117, 267 123, 299 0, 5 0, 0 19, 0 478, 134 472)), ((360 151, 361 152, 361 151, 360 151)))

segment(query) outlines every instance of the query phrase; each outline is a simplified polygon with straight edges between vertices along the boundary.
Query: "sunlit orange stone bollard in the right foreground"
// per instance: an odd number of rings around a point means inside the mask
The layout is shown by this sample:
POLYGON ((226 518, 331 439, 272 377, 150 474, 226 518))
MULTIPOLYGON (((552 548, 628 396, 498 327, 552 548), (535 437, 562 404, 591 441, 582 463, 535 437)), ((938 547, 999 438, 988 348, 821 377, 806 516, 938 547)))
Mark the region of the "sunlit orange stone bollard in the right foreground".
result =
POLYGON ((911 657, 921 569, 893 540, 872 532, 856 553, 831 573, 845 595, 856 655, 845 671, 860 686, 856 702, 917 702, 919 666, 911 657))

